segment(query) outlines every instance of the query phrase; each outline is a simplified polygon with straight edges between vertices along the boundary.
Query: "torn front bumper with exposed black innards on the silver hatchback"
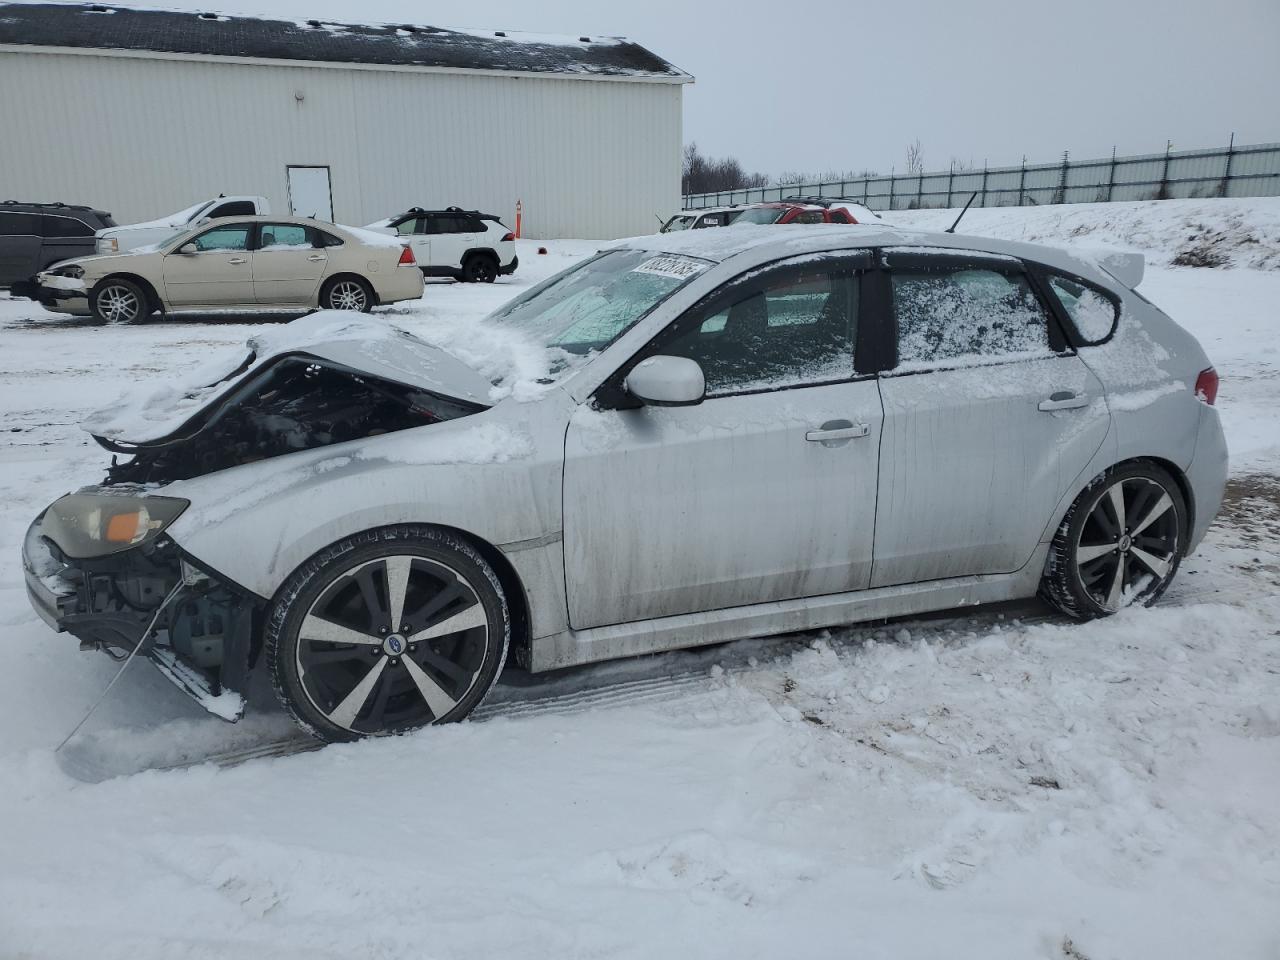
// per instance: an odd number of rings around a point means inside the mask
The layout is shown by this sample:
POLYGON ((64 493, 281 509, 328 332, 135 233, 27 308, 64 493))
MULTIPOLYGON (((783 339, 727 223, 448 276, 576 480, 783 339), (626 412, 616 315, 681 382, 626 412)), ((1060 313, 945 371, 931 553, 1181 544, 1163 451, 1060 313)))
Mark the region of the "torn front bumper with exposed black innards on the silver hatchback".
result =
POLYGON ((82 650, 145 657, 205 709, 239 719, 265 602, 193 566, 172 540, 72 559, 42 532, 23 539, 32 608, 82 650))

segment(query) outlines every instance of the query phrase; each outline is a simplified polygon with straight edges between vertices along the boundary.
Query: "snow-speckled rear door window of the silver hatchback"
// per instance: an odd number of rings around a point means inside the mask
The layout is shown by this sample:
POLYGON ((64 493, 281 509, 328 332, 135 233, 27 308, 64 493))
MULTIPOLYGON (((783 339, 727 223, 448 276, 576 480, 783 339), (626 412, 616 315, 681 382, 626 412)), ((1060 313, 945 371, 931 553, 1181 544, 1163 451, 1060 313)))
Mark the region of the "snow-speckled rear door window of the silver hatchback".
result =
POLYGON ((1048 311, 1016 266, 895 269, 896 370, 1053 356, 1048 311))

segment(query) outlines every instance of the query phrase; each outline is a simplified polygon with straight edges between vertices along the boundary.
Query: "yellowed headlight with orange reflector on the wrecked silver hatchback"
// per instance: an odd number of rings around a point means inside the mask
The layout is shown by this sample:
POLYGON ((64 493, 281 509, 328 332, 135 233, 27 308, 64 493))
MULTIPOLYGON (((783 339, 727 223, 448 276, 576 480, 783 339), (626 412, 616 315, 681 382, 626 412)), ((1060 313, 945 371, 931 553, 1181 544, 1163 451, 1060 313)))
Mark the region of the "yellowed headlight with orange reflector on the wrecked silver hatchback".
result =
POLYGON ((72 559, 105 557, 154 540, 189 500, 69 493, 45 512, 41 532, 72 559))

